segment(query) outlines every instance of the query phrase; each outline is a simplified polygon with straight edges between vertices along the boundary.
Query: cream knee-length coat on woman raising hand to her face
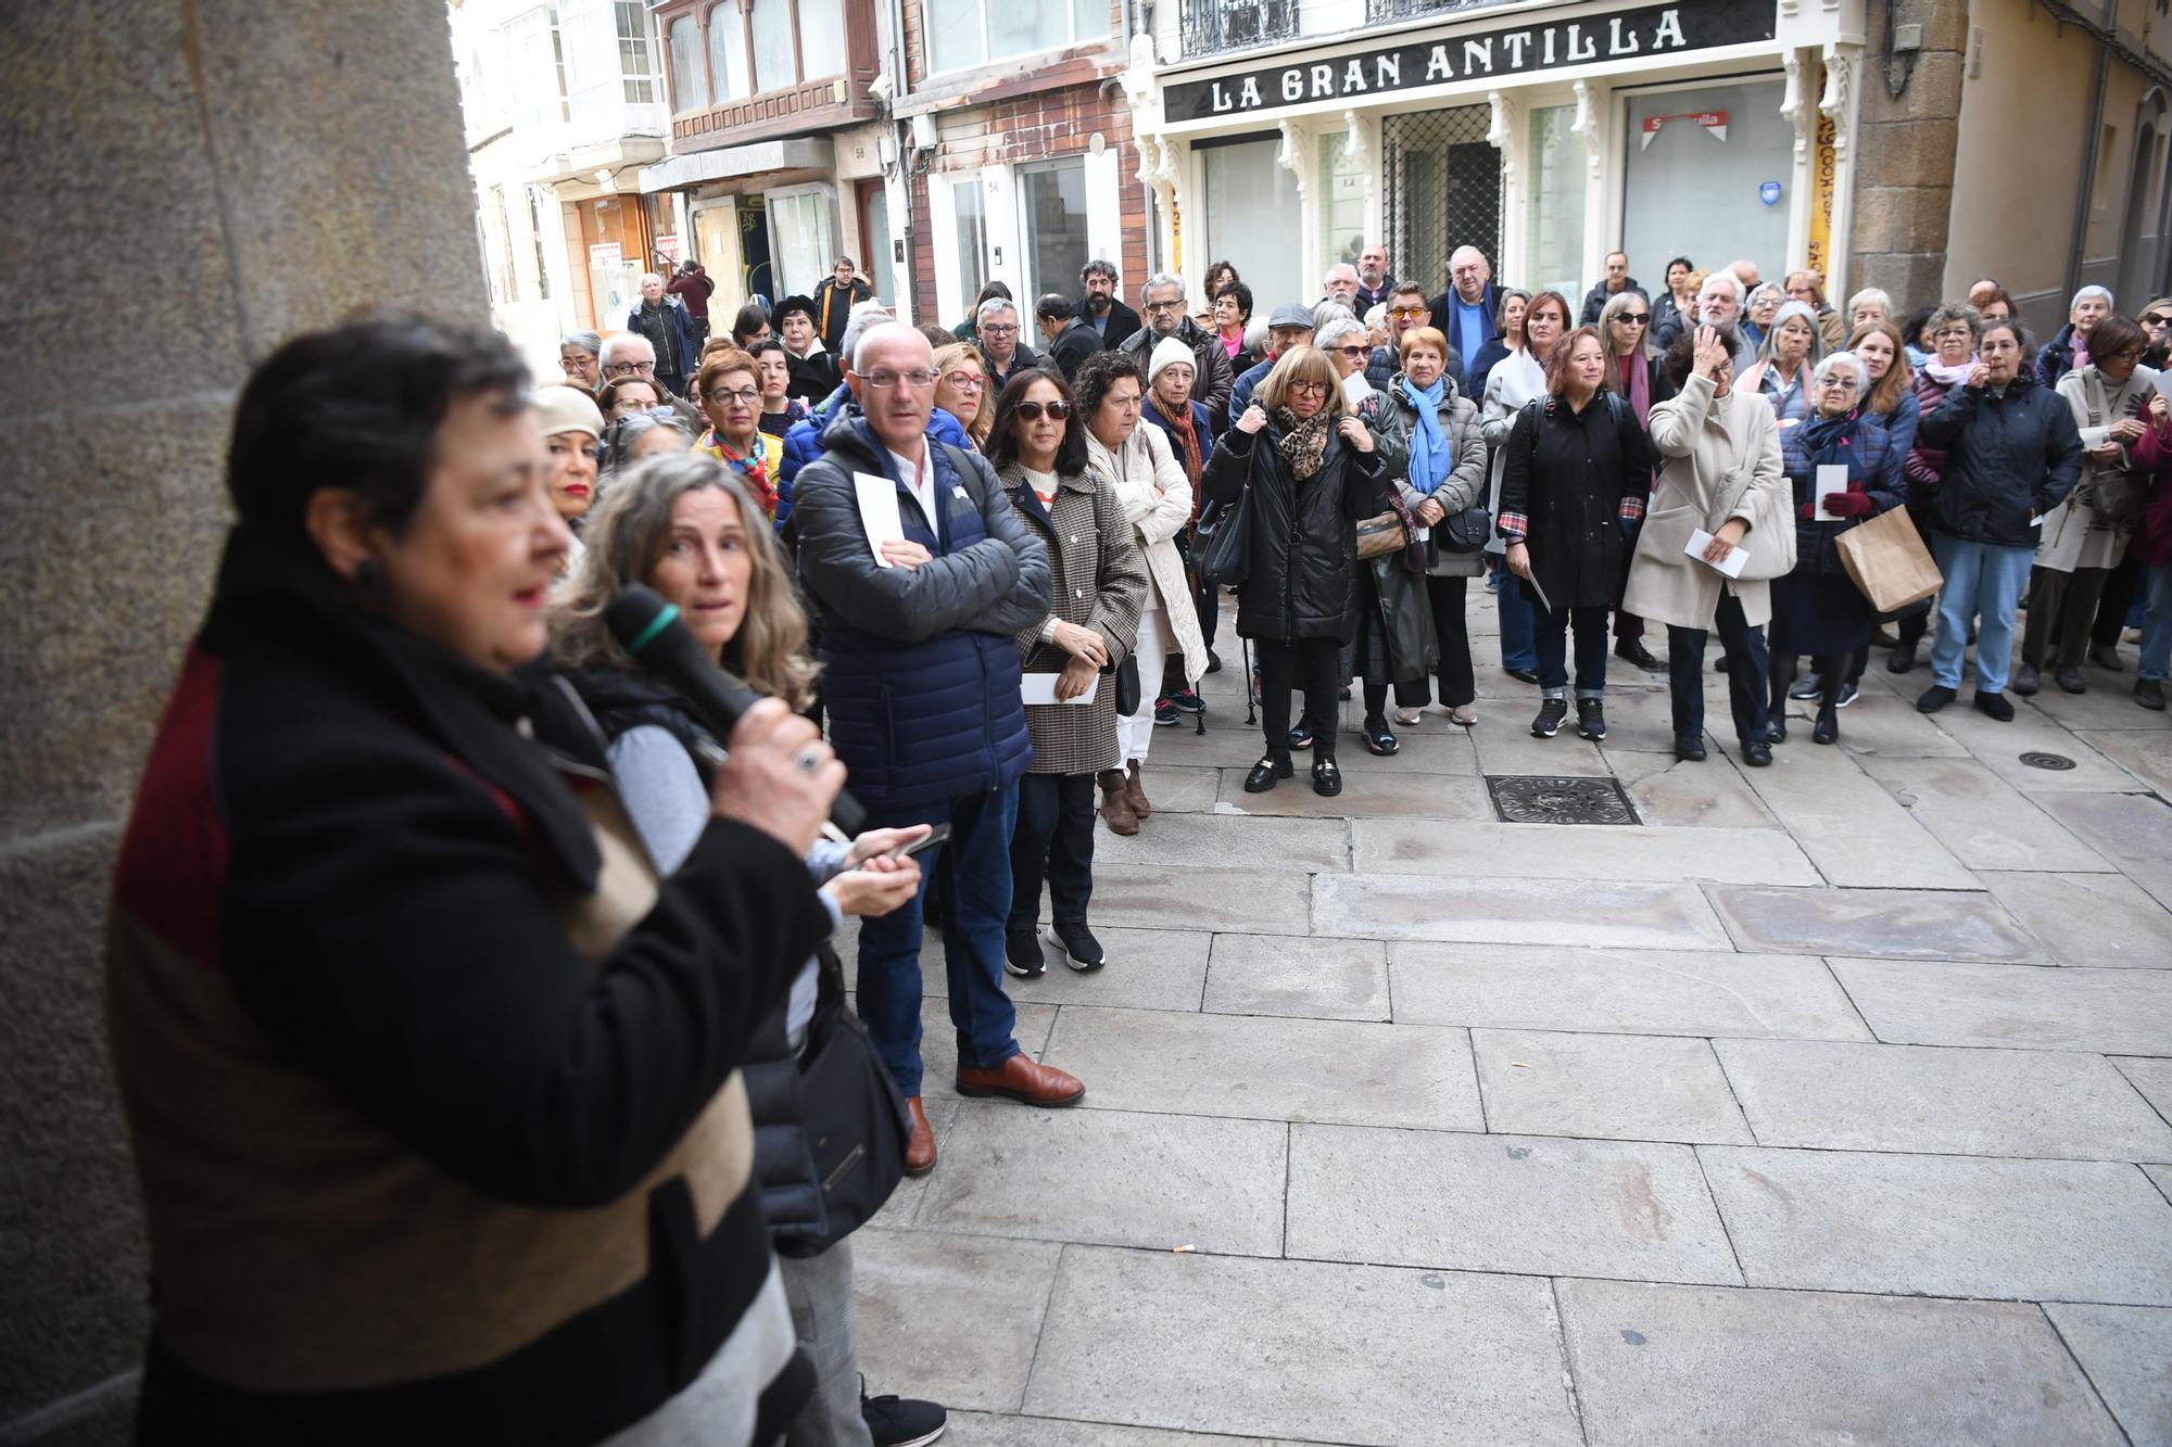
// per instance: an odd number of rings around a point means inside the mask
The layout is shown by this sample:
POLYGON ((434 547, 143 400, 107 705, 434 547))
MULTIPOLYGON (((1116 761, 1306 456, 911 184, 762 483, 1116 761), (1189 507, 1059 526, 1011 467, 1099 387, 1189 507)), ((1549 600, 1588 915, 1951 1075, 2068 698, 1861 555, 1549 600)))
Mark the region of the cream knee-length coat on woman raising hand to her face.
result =
POLYGON ((1714 395, 1712 378, 1690 376, 1681 395, 1651 408, 1651 441, 1666 458, 1659 485, 1644 513, 1644 530, 1629 558, 1629 589, 1622 613, 1675 628, 1714 626, 1720 591, 1742 600, 1742 617, 1755 628, 1772 617, 1772 587, 1729 582, 1716 569, 1683 554, 1690 532, 1718 532, 1729 519, 1755 524, 1757 491, 1768 517, 1785 517, 1788 482, 1779 463, 1779 424, 1757 393, 1731 387, 1714 395), (1725 515, 1729 493, 1742 474, 1751 485, 1725 515))

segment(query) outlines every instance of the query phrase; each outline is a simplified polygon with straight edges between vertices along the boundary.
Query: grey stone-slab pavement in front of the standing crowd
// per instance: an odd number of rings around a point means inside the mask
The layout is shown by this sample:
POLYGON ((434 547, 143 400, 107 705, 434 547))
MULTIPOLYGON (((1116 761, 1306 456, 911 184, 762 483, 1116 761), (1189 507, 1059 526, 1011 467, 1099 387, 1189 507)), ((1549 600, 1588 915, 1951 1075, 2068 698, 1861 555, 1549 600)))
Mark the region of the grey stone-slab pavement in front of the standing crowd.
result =
POLYGON ((1012 982, 1084 1106, 956 1099, 927 1002, 871 1391, 962 1447, 2172 1440, 2172 719, 1922 717, 1881 650, 1840 747, 1742 769, 1714 676, 1679 765, 1664 676, 1538 741, 1470 624, 1479 726, 1344 732, 1318 800, 1242 793, 1223 619, 1097 834, 1114 962, 1012 982), (1638 823, 1499 821, 1531 773, 1638 823))

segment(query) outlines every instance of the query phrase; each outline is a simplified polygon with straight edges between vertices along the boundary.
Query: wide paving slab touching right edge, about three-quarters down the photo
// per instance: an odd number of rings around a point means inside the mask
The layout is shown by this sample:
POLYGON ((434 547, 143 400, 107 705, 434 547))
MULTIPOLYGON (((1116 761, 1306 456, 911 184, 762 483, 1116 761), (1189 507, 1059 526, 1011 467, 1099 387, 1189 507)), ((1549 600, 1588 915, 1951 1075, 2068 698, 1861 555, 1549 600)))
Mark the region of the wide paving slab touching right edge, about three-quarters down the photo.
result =
MULTIPOLYGON (((1759 1145, 2172 1160, 2172 1125, 2102 1056, 1835 1041, 1714 1049, 1759 1145)), ((1483 1067, 1481 1047, 1481 1082, 1483 1067)))

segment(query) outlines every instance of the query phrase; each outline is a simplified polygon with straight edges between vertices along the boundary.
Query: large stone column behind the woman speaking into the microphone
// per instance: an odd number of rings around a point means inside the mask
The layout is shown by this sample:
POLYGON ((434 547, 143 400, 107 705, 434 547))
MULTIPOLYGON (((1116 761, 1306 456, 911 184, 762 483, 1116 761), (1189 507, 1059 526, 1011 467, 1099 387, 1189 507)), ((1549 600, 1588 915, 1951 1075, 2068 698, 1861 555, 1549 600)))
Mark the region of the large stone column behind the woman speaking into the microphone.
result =
POLYGON ((0 1440, 122 1443, 148 1323, 100 936, 228 521, 235 393, 358 306, 487 319, 441 0, 0 9, 0 1440))

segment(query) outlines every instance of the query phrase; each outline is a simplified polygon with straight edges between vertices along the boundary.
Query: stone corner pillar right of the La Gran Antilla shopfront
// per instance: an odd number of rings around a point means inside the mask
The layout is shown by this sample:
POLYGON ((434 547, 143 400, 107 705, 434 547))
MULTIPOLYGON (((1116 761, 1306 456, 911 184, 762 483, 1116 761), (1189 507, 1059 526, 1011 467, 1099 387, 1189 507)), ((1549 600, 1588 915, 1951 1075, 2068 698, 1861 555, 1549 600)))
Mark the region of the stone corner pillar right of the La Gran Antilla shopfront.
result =
MULTIPOLYGON (((1857 59, 1861 113, 1855 130, 1855 228, 1848 291, 1881 287, 1903 311, 1940 298, 1959 148, 1961 50, 1968 7, 1944 0, 1870 0, 1868 43, 1857 59), (1887 85, 1885 11, 1922 26, 1907 89, 1887 85)), ((1898 67, 1892 70, 1898 78, 1898 67)), ((1844 295, 1831 298, 1846 306, 1844 295)))

